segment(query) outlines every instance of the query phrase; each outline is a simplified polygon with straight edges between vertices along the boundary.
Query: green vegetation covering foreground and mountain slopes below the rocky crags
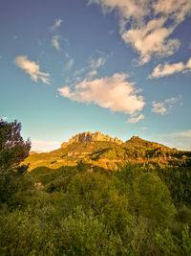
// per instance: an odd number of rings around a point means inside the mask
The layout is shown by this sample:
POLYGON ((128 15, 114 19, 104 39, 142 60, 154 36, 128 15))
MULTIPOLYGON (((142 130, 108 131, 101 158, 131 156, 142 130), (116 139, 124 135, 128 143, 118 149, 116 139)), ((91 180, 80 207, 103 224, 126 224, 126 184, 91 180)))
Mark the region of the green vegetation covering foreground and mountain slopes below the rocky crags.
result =
POLYGON ((191 255, 191 152, 106 144, 30 154, 0 121, 0 255, 191 255))

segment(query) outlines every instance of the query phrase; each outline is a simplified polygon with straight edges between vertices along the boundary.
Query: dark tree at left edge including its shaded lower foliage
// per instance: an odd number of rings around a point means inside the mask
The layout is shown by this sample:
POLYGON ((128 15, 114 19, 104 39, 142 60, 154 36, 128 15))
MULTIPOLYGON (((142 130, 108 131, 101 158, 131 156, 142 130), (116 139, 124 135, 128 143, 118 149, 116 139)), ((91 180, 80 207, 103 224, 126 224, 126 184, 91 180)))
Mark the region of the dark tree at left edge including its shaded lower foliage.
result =
POLYGON ((29 155, 31 142, 23 140, 21 123, 0 120, 0 203, 12 204, 12 199, 18 191, 30 187, 28 176, 25 175, 28 166, 20 163, 29 155))

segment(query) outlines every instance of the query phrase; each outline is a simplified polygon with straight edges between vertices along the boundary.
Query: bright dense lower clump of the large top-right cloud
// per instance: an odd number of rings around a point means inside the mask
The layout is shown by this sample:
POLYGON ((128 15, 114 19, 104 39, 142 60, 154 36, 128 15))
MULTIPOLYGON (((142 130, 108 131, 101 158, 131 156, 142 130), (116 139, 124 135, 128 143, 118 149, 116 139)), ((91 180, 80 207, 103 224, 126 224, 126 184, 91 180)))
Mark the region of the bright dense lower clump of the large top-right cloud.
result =
POLYGON ((153 19, 136 29, 121 31, 126 43, 130 43, 140 56, 140 64, 148 62, 153 54, 170 56, 180 47, 178 39, 167 39, 174 28, 165 28, 164 18, 153 19))

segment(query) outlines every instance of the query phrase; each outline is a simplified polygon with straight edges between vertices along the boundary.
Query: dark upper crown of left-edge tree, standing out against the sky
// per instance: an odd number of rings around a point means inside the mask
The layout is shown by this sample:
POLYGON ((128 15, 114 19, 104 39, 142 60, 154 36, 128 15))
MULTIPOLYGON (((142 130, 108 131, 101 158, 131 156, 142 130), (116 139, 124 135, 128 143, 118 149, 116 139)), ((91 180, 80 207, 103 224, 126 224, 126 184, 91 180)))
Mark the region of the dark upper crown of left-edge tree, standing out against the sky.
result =
POLYGON ((22 170, 19 164, 29 155, 31 142, 24 141, 21 134, 21 123, 0 120, 0 170, 22 170))

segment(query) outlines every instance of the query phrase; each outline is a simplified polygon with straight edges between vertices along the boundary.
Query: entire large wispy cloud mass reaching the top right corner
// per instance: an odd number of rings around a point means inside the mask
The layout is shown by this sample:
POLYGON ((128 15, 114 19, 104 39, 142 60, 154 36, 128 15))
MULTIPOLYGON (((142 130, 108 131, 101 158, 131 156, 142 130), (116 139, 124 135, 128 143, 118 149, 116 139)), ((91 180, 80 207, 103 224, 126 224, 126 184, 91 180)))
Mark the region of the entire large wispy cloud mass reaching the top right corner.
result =
POLYGON ((89 0, 89 4, 93 3, 100 5, 104 13, 118 11, 120 35, 138 52, 140 64, 153 55, 174 54, 180 40, 169 36, 191 14, 190 0, 89 0))

